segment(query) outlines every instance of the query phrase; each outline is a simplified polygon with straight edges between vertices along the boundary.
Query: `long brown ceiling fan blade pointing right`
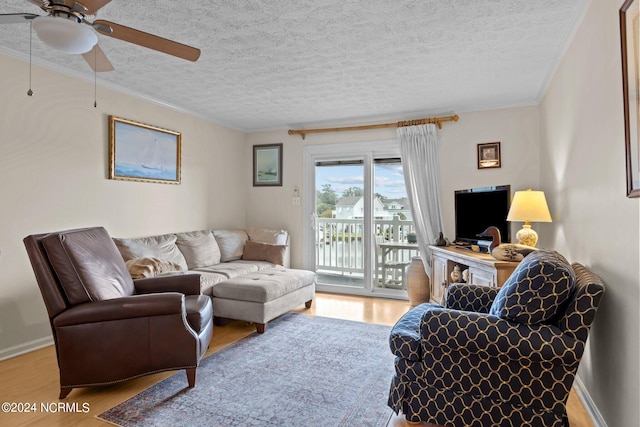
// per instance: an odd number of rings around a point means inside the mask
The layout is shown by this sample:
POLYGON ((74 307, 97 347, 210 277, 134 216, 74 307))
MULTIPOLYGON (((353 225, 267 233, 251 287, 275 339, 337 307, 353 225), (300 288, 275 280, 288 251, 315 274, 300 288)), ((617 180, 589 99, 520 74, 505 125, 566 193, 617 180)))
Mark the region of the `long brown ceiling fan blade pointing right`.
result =
POLYGON ((125 27, 124 25, 114 24, 113 22, 105 21, 103 19, 94 21, 93 25, 97 31, 100 31, 100 27, 103 25, 111 27, 113 30, 111 34, 100 32, 105 36, 134 43, 149 49, 157 50, 158 52, 177 56, 178 58, 197 61, 200 57, 200 49, 174 42, 173 40, 165 39, 163 37, 154 36, 153 34, 145 33, 144 31, 134 30, 133 28, 125 27))

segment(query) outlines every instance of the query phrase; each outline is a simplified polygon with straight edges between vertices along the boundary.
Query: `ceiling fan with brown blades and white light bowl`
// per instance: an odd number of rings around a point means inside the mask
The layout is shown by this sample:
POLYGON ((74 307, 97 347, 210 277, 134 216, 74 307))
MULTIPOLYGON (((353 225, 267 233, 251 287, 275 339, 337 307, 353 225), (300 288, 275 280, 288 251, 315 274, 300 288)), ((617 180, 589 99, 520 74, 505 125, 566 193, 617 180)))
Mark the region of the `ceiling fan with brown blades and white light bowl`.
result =
POLYGON ((33 22, 33 29, 40 40, 61 52, 82 54, 89 66, 97 72, 113 71, 114 69, 98 46, 97 33, 189 61, 197 61, 200 57, 200 49, 103 19, 93 22, 86 19, 87 15, 94 15, 111 0, 27 1, 47 12, 47 15, 0 14, 0 24, 33 22))

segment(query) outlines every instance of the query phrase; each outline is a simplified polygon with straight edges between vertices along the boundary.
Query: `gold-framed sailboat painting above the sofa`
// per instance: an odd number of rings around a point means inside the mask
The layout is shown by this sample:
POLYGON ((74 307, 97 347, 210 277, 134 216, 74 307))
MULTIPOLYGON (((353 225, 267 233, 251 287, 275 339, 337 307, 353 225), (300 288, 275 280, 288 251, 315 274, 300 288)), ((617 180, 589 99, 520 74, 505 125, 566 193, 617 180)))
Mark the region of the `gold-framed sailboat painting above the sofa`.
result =
POLYGON ((109 179, 180 184, 182 134, 109 116, 109 179))

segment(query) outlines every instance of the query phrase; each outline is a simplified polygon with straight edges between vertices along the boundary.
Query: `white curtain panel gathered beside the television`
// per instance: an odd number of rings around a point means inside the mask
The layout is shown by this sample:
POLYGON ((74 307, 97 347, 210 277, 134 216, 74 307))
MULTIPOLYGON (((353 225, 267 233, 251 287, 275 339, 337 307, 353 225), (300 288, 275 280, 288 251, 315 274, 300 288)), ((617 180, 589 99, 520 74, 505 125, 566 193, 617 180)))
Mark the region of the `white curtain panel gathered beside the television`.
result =
POLYGON ((400 154, 407 186, 409 206, 416 228, 420 256, 425 271, 431 275, 431 251, 441 231, 440 142, 436 125, 399 127, 400 154))

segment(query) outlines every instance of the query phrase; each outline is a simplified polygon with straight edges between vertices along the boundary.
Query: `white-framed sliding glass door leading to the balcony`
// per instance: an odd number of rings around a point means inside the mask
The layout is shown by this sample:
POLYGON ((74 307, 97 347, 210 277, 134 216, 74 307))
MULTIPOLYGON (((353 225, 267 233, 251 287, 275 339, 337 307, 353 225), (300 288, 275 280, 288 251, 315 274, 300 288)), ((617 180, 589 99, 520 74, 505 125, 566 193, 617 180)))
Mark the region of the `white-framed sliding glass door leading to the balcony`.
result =
POLYGON ((405 297, 417 248, 397 143, 308 146, 304 166, 305 268, 318 289, 405 297))

